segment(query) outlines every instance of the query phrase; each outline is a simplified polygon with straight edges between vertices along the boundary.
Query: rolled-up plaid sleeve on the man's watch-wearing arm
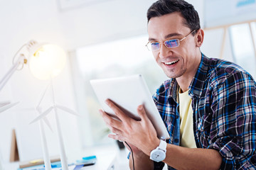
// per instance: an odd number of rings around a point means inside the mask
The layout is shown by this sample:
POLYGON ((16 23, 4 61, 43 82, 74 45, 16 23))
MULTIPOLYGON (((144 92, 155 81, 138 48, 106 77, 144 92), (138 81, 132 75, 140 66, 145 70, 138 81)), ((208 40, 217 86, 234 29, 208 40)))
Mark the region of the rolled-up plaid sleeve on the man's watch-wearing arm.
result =
POLYGON ((223 157, 220 169, 255 169, 256 91, 250 74, 237 72, 213 90, 208 146, 223 157), (254 167, 254 168, 253 168, 254 167))

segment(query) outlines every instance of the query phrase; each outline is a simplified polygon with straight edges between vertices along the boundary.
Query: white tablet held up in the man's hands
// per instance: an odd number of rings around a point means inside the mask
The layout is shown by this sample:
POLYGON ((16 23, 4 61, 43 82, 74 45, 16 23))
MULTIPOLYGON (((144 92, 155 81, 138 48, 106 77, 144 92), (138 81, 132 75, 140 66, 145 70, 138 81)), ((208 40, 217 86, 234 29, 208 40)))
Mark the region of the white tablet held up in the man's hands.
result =
POLYGON ((110 98, 124 113, 135 120, 140 120, 137 107, 142 104, 149 120, 156 129, 157 137, 161 140, 170 138, 141 74, 112 79, 95 79, 91 80, 90 84, 106 113, 117 118, 112 109, 105 103, 105 100, 110 98))

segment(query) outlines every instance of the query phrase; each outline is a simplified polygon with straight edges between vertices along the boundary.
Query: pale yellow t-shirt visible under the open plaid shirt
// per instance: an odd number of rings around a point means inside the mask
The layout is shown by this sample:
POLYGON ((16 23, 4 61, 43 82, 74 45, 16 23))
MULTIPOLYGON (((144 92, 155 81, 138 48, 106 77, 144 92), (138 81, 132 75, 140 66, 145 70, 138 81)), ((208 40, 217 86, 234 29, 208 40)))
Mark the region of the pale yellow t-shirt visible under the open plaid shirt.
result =
POLYGON ((188 91, 178 92, 179 111, 181 120, 181 147, 196 148, 196 141, 193 135, 193 110, 191 107, 191 97, 188 91))

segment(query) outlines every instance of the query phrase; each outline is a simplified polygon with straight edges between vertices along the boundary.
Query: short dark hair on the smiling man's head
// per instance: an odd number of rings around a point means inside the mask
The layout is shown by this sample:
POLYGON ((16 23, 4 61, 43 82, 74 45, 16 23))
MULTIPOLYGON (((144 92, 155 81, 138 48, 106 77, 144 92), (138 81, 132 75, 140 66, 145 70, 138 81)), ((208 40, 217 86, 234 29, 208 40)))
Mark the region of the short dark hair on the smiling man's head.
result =
MULTIPOLYGON (((164 16, 169 13, 180 12, 181 16, 185 19, 184 25, 196 32, 201 28, 198 12, 193 5, 183 0, 159 0, 152 4, 147 13, 147 20, 153 17, 164 16)), ((195 33, 193 33, 195 35, 195 33)))

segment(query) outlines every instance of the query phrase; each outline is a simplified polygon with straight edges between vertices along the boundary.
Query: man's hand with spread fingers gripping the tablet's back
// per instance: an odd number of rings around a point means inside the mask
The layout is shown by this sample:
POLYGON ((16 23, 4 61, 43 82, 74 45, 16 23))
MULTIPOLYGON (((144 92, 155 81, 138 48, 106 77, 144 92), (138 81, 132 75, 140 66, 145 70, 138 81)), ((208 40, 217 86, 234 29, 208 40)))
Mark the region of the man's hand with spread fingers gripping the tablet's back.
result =
POLYGON ((151 150, 159 145, 160 140, 157 138, 156 130, 147 117, 142 105, 137 108, 137 113, 141 118, 141 120, 137 121, 125 115, 121 109, 114 105, 109 99, 106 103, 121 120, 121 122, 115 120, 110 115, 107 115, 107 113, 100 110, 105 123, 110 130, 115 133, 115 135, 109 135, 109 137, 114 140, 125 141, 134 147, 137 147, 146 155, 149 155, 151 150))

